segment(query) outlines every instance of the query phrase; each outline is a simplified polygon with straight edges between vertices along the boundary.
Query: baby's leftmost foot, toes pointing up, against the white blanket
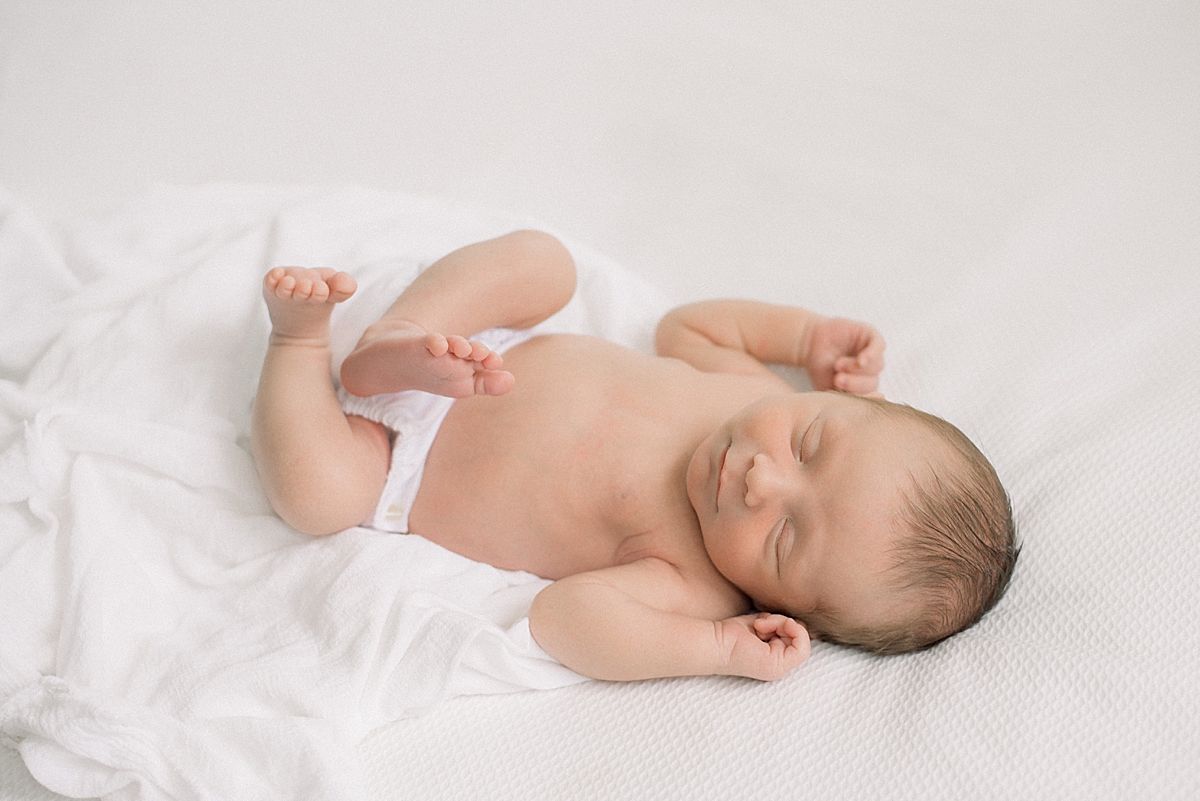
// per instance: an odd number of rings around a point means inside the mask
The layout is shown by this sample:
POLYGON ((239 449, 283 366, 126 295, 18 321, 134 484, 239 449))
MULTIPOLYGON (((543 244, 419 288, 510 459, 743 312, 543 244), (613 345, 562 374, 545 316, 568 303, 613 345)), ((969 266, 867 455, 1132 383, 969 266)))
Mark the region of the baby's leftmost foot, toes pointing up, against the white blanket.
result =
POLYGON ((272 339, 329 344, 334 306, 354 294, 349 273, 322 267, 275 267, 263 278, 272 339))

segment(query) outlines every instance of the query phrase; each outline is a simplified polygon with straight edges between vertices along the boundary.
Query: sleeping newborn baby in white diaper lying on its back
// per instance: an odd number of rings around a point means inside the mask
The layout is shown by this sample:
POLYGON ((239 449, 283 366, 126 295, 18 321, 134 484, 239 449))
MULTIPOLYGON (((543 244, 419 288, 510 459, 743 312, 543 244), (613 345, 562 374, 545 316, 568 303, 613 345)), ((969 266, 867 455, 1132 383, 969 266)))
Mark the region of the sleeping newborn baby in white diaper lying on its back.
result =
POLYGON ((337 389, 330 313, 355 288, 329 269, 264 279, 253 447, 272 506, 312 535, 419 534, 552 579, 529 628, 577 673, 774 680, 810 638, 926 648, 1008 585, 995 470, 954 426, 876 393, 869 325, 712 301, 662 319, 658 356, 546 332, 575 265, 516 231, 425 270, 337 389))

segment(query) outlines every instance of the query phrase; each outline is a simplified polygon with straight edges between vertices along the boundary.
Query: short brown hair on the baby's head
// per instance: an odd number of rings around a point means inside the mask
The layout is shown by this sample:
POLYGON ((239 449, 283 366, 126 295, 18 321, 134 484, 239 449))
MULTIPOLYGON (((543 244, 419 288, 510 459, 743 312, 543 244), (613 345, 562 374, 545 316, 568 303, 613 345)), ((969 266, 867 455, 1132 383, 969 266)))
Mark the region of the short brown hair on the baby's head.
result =
POLYGON ((926 649, 973 626, 1008 589, 1020 546, 1012 501, 996 470, 956 427, 912 406, 863 398, 876 411, 934 434, 950 454, 912 476, 896 529, 895 589, 916 613, 877 626, 847 626, 817 610, 805 620, 822 639, 874 654, 926 649))

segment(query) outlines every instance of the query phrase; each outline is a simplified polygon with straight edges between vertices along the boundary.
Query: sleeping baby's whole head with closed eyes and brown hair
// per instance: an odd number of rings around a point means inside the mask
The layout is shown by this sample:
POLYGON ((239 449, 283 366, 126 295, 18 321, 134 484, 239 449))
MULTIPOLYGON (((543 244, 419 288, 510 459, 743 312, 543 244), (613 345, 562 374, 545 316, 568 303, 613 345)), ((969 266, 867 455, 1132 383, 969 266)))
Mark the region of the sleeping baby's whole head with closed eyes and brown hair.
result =
POLYGON ((950 423, 886 401, 755 403, 701 444, 688 492, 713 564, 760 608, 877 654, 974 624, 1019 552, 979 450, 950 423))

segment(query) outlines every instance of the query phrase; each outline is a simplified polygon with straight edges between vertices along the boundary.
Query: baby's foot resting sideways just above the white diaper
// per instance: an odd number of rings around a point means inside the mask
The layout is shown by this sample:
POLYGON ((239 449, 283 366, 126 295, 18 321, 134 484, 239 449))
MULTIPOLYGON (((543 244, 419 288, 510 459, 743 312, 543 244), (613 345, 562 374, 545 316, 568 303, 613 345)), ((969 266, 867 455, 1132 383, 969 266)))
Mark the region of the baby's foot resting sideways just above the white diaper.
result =
POLYGON ((481 342, 431 333, 407 320, 382 320, 342 362, 342 386, 361 397, 404 390, 449 398, 504 395, 514 378, 503 365, 481 342))

